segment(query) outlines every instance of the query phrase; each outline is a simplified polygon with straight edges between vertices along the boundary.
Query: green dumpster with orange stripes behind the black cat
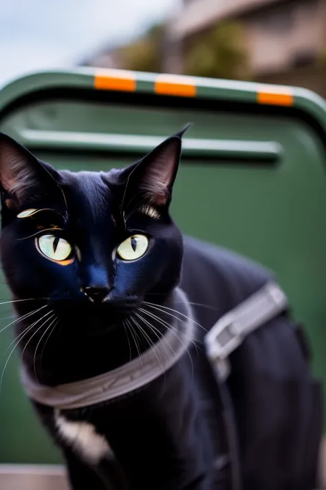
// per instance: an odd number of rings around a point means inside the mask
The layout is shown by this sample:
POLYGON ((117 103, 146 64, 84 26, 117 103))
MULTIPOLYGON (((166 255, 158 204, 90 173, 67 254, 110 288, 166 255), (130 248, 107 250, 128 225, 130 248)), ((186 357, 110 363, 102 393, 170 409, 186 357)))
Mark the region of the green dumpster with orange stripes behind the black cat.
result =
MULTIPOLYGON (((0 91, 0 130, 75 171, 131 163, 188 121, 175 220, 279 274, 325 379, 323 99, 303 89, 116 70, 32 74, 0 91)), ((0 288, 5 301, 3 278, 0 288)), ((1 308, 2 329, 12 313, 1 308)), ((0 372, 12 340, 10 327, 1 331, 0 372)), ((18 363, 14 351, 1 386, 0 462, 59 462, 23 395, 18 363)))

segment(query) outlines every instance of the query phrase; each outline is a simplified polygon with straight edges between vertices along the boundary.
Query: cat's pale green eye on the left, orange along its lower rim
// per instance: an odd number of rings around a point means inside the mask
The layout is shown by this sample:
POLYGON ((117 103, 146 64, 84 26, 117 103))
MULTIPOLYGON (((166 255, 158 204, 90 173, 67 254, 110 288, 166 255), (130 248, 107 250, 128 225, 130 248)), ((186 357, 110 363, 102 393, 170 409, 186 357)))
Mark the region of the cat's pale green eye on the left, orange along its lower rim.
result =
POLYGON ((67 240, 55 235, 42 235, 36 238, 36 247, 45 257, 51 261, 69 265, 72 258, 72 245, 67 240))

